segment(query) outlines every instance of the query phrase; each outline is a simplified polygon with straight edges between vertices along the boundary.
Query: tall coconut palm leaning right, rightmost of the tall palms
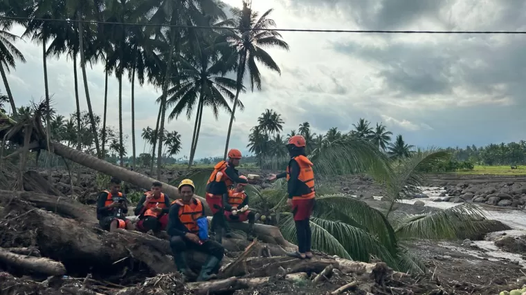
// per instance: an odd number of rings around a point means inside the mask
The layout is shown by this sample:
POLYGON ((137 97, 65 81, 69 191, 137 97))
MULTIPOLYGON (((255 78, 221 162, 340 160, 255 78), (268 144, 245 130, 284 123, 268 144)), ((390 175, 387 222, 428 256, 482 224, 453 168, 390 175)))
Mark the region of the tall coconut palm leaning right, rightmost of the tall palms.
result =
POLYGON ((236 26, 235 34, 229 35, 231 44, 237 50, 237 91, 234 99, 234 106, 232 107, 232 115, 230 115, 230 124, 228 125, 228 133, 226 135, 225 153, 223 158, 226 159, 228 152, 228 143, 230 142, 230 133, 232 132, 232 124, 234 122, 235 110, 237 108, 237 101, 239 99, 239 92, 242 90, 243 79, 246 75, 251 81, 251 90, 254 91, 254 86, 257 90, 261 90, 261 73, 257 68, 256 60, 264 64, 277 73, 281 74, 280 67, 272 59, 271 55, 263 48, 275 46, 285 50, 289 50, 289 44, 281 39, 279 32, 269 29, 275 26, 275 22, 269 19, 272 10, 267 10, 258 19, 259 14, 254 12, 246 1, 243 1, 242 10, 233 10, 235 15, 236 26))

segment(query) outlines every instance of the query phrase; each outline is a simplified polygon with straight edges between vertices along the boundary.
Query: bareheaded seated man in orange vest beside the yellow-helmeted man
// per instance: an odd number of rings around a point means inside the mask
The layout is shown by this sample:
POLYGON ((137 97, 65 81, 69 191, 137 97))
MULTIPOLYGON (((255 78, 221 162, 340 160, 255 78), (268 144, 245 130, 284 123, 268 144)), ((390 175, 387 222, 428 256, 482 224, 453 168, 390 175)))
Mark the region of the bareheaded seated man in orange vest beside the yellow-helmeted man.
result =
POLYGON ((147 232, 152 230, 155 234, 166 229, 168 212, 170 211, 170 198, 161 190, 163 184, 154 182, 152 189, 140 198, 135 215, 139 217, 137 230, 147 232))

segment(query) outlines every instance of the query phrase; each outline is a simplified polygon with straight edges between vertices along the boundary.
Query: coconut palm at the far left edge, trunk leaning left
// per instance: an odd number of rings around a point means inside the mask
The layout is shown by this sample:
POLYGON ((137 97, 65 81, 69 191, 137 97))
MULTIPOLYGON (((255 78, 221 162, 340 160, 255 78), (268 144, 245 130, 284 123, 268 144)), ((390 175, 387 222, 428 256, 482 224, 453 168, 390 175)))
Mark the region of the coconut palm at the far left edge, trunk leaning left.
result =
POLYGON ((24 55, 13 44, 19 37, 9 32, 12 27, 11 21, 1 21, 0 23, 0 74, 2 75, 3 86, 6 87, 6 93, 9 97, 9 103, 13 114, 17 115, 17 106, 15 99, 12 97, 11 88, 9 87, 6 71, 9 73, 11 68, 15 68, 16 60, 26 62, 24 55))

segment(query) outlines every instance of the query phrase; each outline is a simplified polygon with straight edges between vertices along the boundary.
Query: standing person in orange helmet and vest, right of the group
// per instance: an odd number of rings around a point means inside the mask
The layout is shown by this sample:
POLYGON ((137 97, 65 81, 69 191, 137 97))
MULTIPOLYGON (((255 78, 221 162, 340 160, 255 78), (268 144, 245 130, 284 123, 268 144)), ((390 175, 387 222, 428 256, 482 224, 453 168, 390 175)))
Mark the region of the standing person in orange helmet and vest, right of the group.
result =
POLYGON ((300 259, 312 258, 311 252, 311 226, 310 216, 316 200, 314 197, 314 171, 313 164, 305 155, 305 138, 294 135, 289 139, 287 149, 291 156, 287 171, 278 175, 271 175, 269 180, 287 178, 287 191, 289 198, 287 204, 292 209, 298 236, 298 251, 289 253, 289 256, 300 259))

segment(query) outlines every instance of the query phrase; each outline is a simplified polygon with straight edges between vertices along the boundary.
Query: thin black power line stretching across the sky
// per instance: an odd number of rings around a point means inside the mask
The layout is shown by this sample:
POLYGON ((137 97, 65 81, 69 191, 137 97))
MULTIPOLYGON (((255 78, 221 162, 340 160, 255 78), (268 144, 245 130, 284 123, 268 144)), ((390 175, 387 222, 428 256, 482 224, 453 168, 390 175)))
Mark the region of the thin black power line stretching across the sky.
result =
MULTIPOLYGON (((123 23, 117 21, 84 21, 78 19, 39 19, 30 17, 5 17, 0 16, 0 19, 10 19, 18 21, 58 21, 67 23, 88 23, 88 24, 106 24, 106 25, 120 25, 120 26, 156 26, 165 28, 196 28, 204 30, 235 30, 237 28, 221 27, 221 26, 189 26, 189 25, 171 25, 166 23, 123 23)), ((277 31, 277 32, 347 32, 347 33, 383 33, 383 34, 502 34, 502 35, 525 35, 526 31, 452 31, 452 30, 324 30, 324 29, 289 29, 289 28, 247 28, 246 30, 257 31, 277 31)))

